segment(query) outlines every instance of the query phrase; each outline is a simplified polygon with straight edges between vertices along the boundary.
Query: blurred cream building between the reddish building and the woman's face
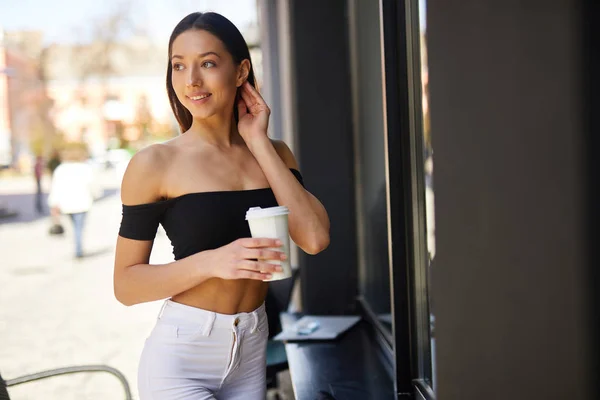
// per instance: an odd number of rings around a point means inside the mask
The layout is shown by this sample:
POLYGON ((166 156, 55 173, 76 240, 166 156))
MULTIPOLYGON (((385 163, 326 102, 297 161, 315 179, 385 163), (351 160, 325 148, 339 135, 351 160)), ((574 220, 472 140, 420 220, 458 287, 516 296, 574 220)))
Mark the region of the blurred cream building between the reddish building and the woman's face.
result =
POLYGON ((145 37, 52 45, 45 61, 52 120, 94 155, 176 132, 165 93, 166 49, 145 37))

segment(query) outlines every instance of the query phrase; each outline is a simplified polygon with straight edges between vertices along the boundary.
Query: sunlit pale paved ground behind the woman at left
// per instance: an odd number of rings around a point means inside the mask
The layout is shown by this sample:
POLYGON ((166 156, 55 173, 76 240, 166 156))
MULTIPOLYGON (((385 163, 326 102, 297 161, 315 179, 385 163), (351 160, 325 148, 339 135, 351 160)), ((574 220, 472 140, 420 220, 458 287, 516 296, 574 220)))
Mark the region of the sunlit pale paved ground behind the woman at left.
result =
MULTIPOLYGON (((49 236, 49 217, 34 212, 33 182, 0 177, 0 206, 19 211, 15 218, 0 219, 0 371, 5 379, 44 369, 105 364, 125 374, 137 398, 139 354, 161 304, 125 307, 113 296, 121 212, 113 178, 103 176, 107 196, 88 215, 87 257, 75 260, 70 221, 63 221, 63 237, 49 236)), ((151 262, 170 260, 168 239, 159 235, 151 262)), ((288 385, 286 398, 292 398, 289 375, 282 378, 288 385)), ((10 395, 13 400, 124 398, 119 382, 105 373, 44 379, 13 387, 10 395)))

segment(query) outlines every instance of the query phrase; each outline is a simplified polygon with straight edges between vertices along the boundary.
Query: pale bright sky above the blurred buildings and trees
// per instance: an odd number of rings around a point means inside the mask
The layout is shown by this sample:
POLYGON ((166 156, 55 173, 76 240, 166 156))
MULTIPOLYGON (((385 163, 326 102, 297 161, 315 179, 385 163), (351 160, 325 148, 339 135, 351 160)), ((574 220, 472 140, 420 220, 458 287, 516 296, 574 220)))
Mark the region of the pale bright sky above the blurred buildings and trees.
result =
POLYGON ((42 30, 46 44, 73 43, 91 22, 123 4, 131 6, 137 25, 165 42, 177 22, 194 11, 221 13, 242 31, 257 19, 256 0, 0 0, 0 27, 42 30))

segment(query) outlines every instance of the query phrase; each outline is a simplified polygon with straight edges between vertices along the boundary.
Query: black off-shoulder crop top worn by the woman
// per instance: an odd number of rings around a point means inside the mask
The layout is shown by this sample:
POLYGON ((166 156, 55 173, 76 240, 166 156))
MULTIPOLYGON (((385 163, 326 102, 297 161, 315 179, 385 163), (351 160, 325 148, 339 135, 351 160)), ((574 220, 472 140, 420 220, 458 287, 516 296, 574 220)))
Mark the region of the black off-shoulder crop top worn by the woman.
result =
MULTIPOLYGON (((291 171, 304 186, 300 172, 291 171)), ((161 224, 171 240, 175 259, 180 260, 250 237, 246 211, 277 205, 271 188, 188 193, 154 203, 123 205, 119 235, 154 240, 161 224)))

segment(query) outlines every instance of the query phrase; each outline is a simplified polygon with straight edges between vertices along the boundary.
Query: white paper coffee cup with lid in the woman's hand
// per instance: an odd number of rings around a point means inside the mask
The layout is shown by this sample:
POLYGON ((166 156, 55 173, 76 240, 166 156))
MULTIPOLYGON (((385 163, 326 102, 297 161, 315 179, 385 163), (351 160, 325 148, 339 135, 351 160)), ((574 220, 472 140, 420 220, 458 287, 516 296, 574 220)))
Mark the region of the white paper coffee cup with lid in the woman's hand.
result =
POLYGON ((252 207, 246 212, 246 220, 250 226, 252 237, 269 238, 281 240, 280 248, 270 250, 285 253, 285 260, 265 260, 270 264, 278 264, 283 268, 282 272, 272 272, 271 279, 267 281, 278 281, 291 278, 292 266, 290 264, 290 234, 288 230, 288 214, 290 211, 285 206, 278 207, 252 207))

